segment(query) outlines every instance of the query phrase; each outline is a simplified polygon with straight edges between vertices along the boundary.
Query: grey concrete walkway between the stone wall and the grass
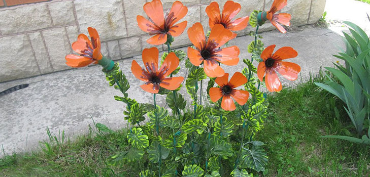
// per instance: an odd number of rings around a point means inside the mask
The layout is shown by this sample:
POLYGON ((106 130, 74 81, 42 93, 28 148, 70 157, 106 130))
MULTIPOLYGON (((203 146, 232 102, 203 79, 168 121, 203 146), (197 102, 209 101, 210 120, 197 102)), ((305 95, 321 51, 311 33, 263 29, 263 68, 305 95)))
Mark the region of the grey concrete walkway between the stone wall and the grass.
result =
MULTIPOLYGON (((290 46, 298 51, 298 57, 289 61, 301 66, 302 78, 308 77, 309 72, 317 73, 321 66, 331 65, 336 60, 331 55, 344 46, 338 34, 311 26, 287 34, 270 31, 261 35, 265 46, 275 44, 277 49, 290 46)), ((230 41, 229 45, 240 47, 241 59, 249 58, 247 46, 252 40, 251 36, 242 36, 230 41)), ((186 52, 186 48, 182 49, 186 52)), ((130 71, 133 59, 141 60, 141 57, 118 61, 131 85, 129 97, 141 103, 151 103, 152 95, 142 91, 139 87, 142 81, 134 78, 130 71)), ((254 64, 257 65, 256 62, 254 64)), ((184 62, 181 65, 184 69, 179 75, 186 75, 184 62)), ((223 66, 230 73, 244 67, 242 60, 237 66, 223 66)), ((120 96, 120 92, 108 85, 100 70, 100 66, 91 66, 0 83, 0 91, 22 83, 29 84, 25 89, 0 97, 0 144, 5 152, 9 154, 38 147, 39 141, 47 139, 47 127, 52 134, 63 129, 69 137, 83 134, 92 124, 91 117, 112 129, 126 126, 122 114, 124 104, 113 98, 120 96)), ((285 86, 298 82, 282 80, 285 86)), ((181 93, 186 94, 184 87, 181 93)), ((164 106, 163 96, 158 96, 157 100, 164 106)))

